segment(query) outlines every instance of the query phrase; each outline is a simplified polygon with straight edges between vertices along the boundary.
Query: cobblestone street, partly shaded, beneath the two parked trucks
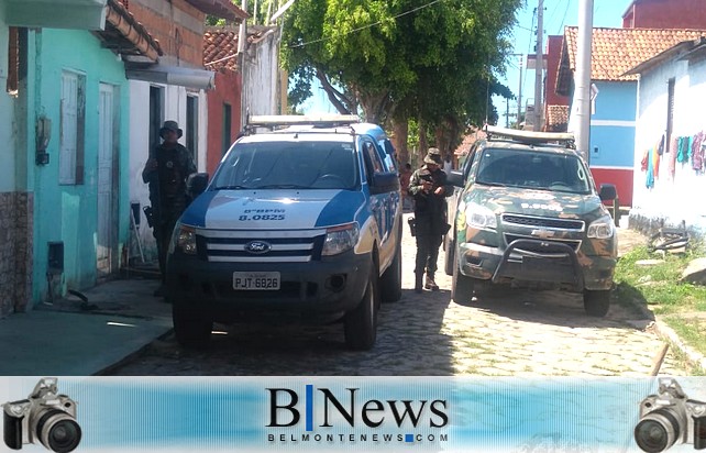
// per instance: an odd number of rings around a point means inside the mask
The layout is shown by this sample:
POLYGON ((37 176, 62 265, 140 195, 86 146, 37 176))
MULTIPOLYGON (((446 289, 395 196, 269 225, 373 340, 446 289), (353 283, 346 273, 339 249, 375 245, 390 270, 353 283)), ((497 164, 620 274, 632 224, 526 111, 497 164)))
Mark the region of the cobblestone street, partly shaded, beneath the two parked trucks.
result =
MULTIPOLYGON (((405 231, 404 296, 383 305, 376 346, 346 351, 341 324, 218 327, 206 352, 173 336, 153 343, 117 375, 476 375, 646 376, 662 346, 650 320, 611 307, 584 313, 580 296, 505 291, 471 305, 450 301, 451 277, 438 292, 415 294, 413 239, 405 231)), ((440 268, 443 252, 440 256, 440 268)), ((668 354, 660 374, 686 375, 668 354)))

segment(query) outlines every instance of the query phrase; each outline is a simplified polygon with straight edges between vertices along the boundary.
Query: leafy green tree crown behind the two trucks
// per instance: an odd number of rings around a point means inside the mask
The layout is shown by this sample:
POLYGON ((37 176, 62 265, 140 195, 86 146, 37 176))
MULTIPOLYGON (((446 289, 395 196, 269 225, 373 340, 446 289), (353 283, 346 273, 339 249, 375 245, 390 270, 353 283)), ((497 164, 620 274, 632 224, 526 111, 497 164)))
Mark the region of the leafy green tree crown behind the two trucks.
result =
POLYGON ((319 77, 324 88, 341 87, 331 90, 340 110, 360 106, 377 122, 395 114, 430 126, 448 119, 477 123, 495 112, 488 92, 509 95, 493 74, 504 71, 520 3, 297 0, 283 29, 283 63, 296 91, 290 100, 305 100, 319 77))

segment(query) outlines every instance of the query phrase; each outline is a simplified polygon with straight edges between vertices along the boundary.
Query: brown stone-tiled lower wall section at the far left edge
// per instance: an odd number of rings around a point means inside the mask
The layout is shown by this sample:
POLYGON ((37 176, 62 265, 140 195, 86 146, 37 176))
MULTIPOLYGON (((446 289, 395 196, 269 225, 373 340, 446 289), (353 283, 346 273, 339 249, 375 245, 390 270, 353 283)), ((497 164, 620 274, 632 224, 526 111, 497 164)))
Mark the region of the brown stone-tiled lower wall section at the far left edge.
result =
POLYGON ((32 194, 0 192, 0 318, 32 297, 32 194))

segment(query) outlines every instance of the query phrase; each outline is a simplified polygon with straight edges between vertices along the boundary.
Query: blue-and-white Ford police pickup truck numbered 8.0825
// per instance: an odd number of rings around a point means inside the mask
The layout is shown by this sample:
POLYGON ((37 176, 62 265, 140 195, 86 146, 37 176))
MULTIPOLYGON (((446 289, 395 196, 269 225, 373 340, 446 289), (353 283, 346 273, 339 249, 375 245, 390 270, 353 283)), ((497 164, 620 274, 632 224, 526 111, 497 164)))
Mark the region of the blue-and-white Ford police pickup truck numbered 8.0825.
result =
POLYGON ((202 346, 214 321, 255 317, 342 320, 351 349, 373 347, 380 300, 401 298, 389 139, 351 115, 252 117, 246 130, 174 230, 166 297, 178 342, 202 346))

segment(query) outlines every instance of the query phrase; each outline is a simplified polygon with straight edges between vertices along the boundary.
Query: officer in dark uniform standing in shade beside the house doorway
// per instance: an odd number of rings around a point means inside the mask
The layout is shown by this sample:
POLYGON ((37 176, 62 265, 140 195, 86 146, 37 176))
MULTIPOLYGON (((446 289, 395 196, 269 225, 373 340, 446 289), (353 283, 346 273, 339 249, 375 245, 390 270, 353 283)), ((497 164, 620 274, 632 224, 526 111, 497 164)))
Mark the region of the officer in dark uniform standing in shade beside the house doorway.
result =
MULTIPOLYGON (((186 179, 196 173, 191 153, 177 142, 181 135, 183 131, 176 121, 165 121, 159 130, 162 144, 152 150, 142 170, 142 180, 150 185, 151 225, 157 242, 162 285, 172 231, 189 202, 186 179)), ((155 296, 163 295, 162 285, 154 292, 155 296)))

